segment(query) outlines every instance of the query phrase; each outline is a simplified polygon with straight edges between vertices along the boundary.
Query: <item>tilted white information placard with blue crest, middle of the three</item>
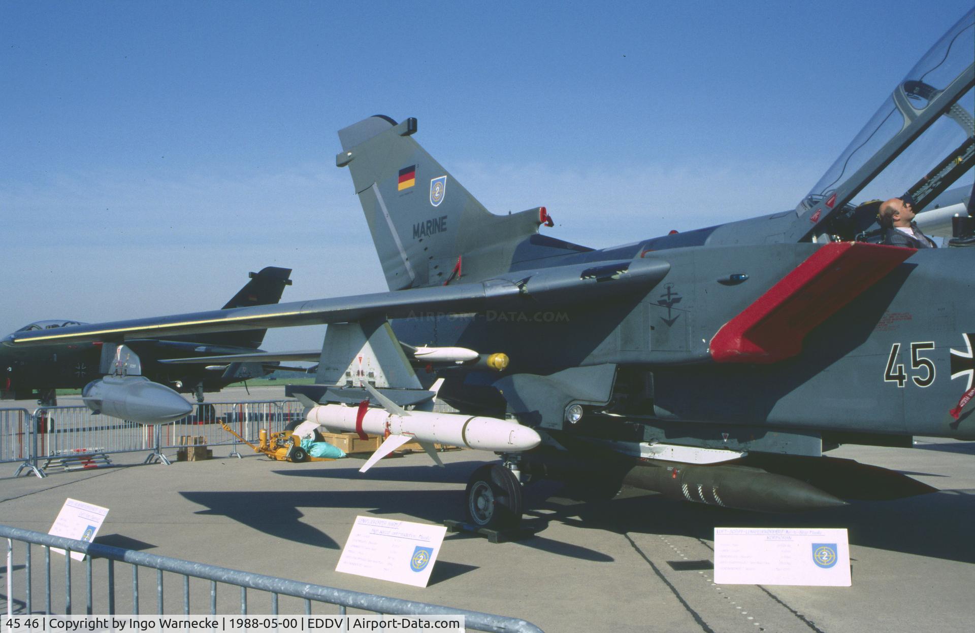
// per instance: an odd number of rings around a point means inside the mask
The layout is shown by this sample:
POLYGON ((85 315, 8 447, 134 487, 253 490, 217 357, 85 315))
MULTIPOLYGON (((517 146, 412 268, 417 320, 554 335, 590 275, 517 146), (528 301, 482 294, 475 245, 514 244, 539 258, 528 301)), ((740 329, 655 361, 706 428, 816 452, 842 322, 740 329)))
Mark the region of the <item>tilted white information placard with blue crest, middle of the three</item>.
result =
POLYGON ((447 528, 357 516, 336 572, 425 587, 447 528))

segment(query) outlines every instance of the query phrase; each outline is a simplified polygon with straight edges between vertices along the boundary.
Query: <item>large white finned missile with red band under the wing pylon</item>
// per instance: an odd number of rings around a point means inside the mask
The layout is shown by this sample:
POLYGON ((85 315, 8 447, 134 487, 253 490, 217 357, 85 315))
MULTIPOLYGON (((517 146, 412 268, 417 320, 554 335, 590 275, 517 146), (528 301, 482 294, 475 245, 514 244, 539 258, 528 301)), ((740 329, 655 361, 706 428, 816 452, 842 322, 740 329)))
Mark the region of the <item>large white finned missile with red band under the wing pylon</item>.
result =
POLYGON ((365 401, 358 407, 319 404, 305 415, 307 421, 325 428, 386 436, 366 465, 359 469, 360 472, 366 472, 381 458, 409 441, 418 441, 438 465, 443 464, 433 448, 434 442, 481 451, 520 453, 533 449, 542 441, 533 428, 510 420, 459 413, 407 411, 375 391, 368 383, 363 386, 373 400, 382 404, 382 408, 370 408, 365 401))

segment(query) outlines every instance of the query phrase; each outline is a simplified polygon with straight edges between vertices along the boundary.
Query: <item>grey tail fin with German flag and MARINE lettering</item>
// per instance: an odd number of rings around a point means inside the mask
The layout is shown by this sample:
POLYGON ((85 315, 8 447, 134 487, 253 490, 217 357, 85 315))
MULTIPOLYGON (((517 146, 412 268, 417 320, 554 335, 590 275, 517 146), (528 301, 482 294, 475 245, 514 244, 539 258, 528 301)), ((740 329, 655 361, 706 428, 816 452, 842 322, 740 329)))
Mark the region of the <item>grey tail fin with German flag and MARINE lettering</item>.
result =
POLYGON ((538 235, 545 207, 494 215, 411 138, 416 119, 376 115, 338 131, 391 290, 486 279, 512 263, 590 250, 538 235))

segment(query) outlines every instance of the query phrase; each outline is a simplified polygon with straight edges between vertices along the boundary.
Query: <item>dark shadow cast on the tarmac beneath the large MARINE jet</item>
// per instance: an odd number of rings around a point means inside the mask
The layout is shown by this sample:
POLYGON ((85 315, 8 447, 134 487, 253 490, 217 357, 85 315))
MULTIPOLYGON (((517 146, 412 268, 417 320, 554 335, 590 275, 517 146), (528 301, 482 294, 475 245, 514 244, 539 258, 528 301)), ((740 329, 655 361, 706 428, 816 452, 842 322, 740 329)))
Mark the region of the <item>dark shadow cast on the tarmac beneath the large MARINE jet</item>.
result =
MULTIPOLYGON (((459 485, 466 484, 470 473, 482 464, 458 462, 443 468, 387 465, 367 473, 358 472, 358 465, 274 471, 292 477, 358 479, 366 488, 370 487, 369 482, 374 485, 381 481, 458 484, 453 491, 393 493, 377 487, 361 491, 181 494, 208 508, 200 513, 223 515, 275 537, 337 549, 339 545, 331 537, 300 522, 303 514, 298 508, 362 508, 365 513, 405 514, 432 523, 459 519, 464 503, 459 485)), ((797 514, 763 514, 677 502, 634 489, 626 489, 611 500, 578 502, 565 496, 562 484, 543 481, 526 486, 525 508, 525 527, 536 534, 517 544, 597 562, 613 559, 597 550, 546 539, 537 533, 544 532, 553 521, 619 534, 672 534, 702 540, 712 540, 715 527, 847 528, 854 545, 975 563, 975 547, 969 535, 970 526, 975 523, 975 490, 942 491, 887 502, 855 502, 797 514)), ((343 540, 345 536, 337 535, 343 540)))

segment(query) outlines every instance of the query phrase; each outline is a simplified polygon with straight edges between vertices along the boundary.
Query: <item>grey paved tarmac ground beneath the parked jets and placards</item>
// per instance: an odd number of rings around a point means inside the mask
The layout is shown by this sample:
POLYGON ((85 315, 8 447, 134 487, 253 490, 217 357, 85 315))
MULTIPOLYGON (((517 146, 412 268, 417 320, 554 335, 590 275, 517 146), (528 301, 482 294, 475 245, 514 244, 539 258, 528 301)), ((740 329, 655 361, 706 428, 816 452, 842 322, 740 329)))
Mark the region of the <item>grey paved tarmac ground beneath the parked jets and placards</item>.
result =
MULTIPOLYGON (((281 397, 280 388, 251 392, 229 389, 208 400, 281 397)), ((490 543, 448 534, 426 588, 336 573, 353 521, 357 515, 433 524, 462 519, 467 478, 492 455, 451 451, 442 454, 447 467, 437 468, 415 454, 360 474, 358 459, 301 465, 228 452, 220 447, 213 460, 170 466, 140 465, 145 454, 117 455, 113 462, 131 467, 45 479, 14 478, 15 465, 0 465, 0 523, 47 532, 64 500, 73 498, 110 508, 98 542, 522 617, 549 633, 969 631, 975 616, 975 442, 916 438, 911 449, 842 446, 830 455, 900 470, 940 492, 795 515, 677 503, 629 489, 610 501, 581 503, 568 499, 558 483, 531 484, 524 522, 534 536, 490 543), (715 527, 846 528, 852 586, 716 585, 715 527)), ((56 558, 55 576, 62 577, 56 558)), ((104 573, 99 564, 97 584, 104 573)), ((83 606, 77 594, 84 568, 75 566, 74 600, 83 606)), ((117 574, 126 596, 118 611, 132 613, 131 573, 117 574)), ((140 584, 141 613, 155 613, 154 577, 146 574, 140 584)), ((191 590, 192 613, 209 613, 209 586, 191 590)), ((224 591, 218 612, 238 613, 239 595, 224 591)), ((168 579, 166 592, 168 613, 182 613, 181 581, 168 579)), ((270 613, 266 594, 253 593, 250 613, 270 613)), ((43 592, 35 594, 35 612, 42 602, 37 596, 43 592)), ((62 600, 55 599, 56 612, 62 600)), ((3 612, 5 601, 0 595, 3 612)), ((103 604, 98 590, 96 613, 104 613, 103 604)), ((22 604, 15 601, 14 608, 17 613, 22 604)), ((282 613, 301 610, 300 602, 282 598, 282 613)))

